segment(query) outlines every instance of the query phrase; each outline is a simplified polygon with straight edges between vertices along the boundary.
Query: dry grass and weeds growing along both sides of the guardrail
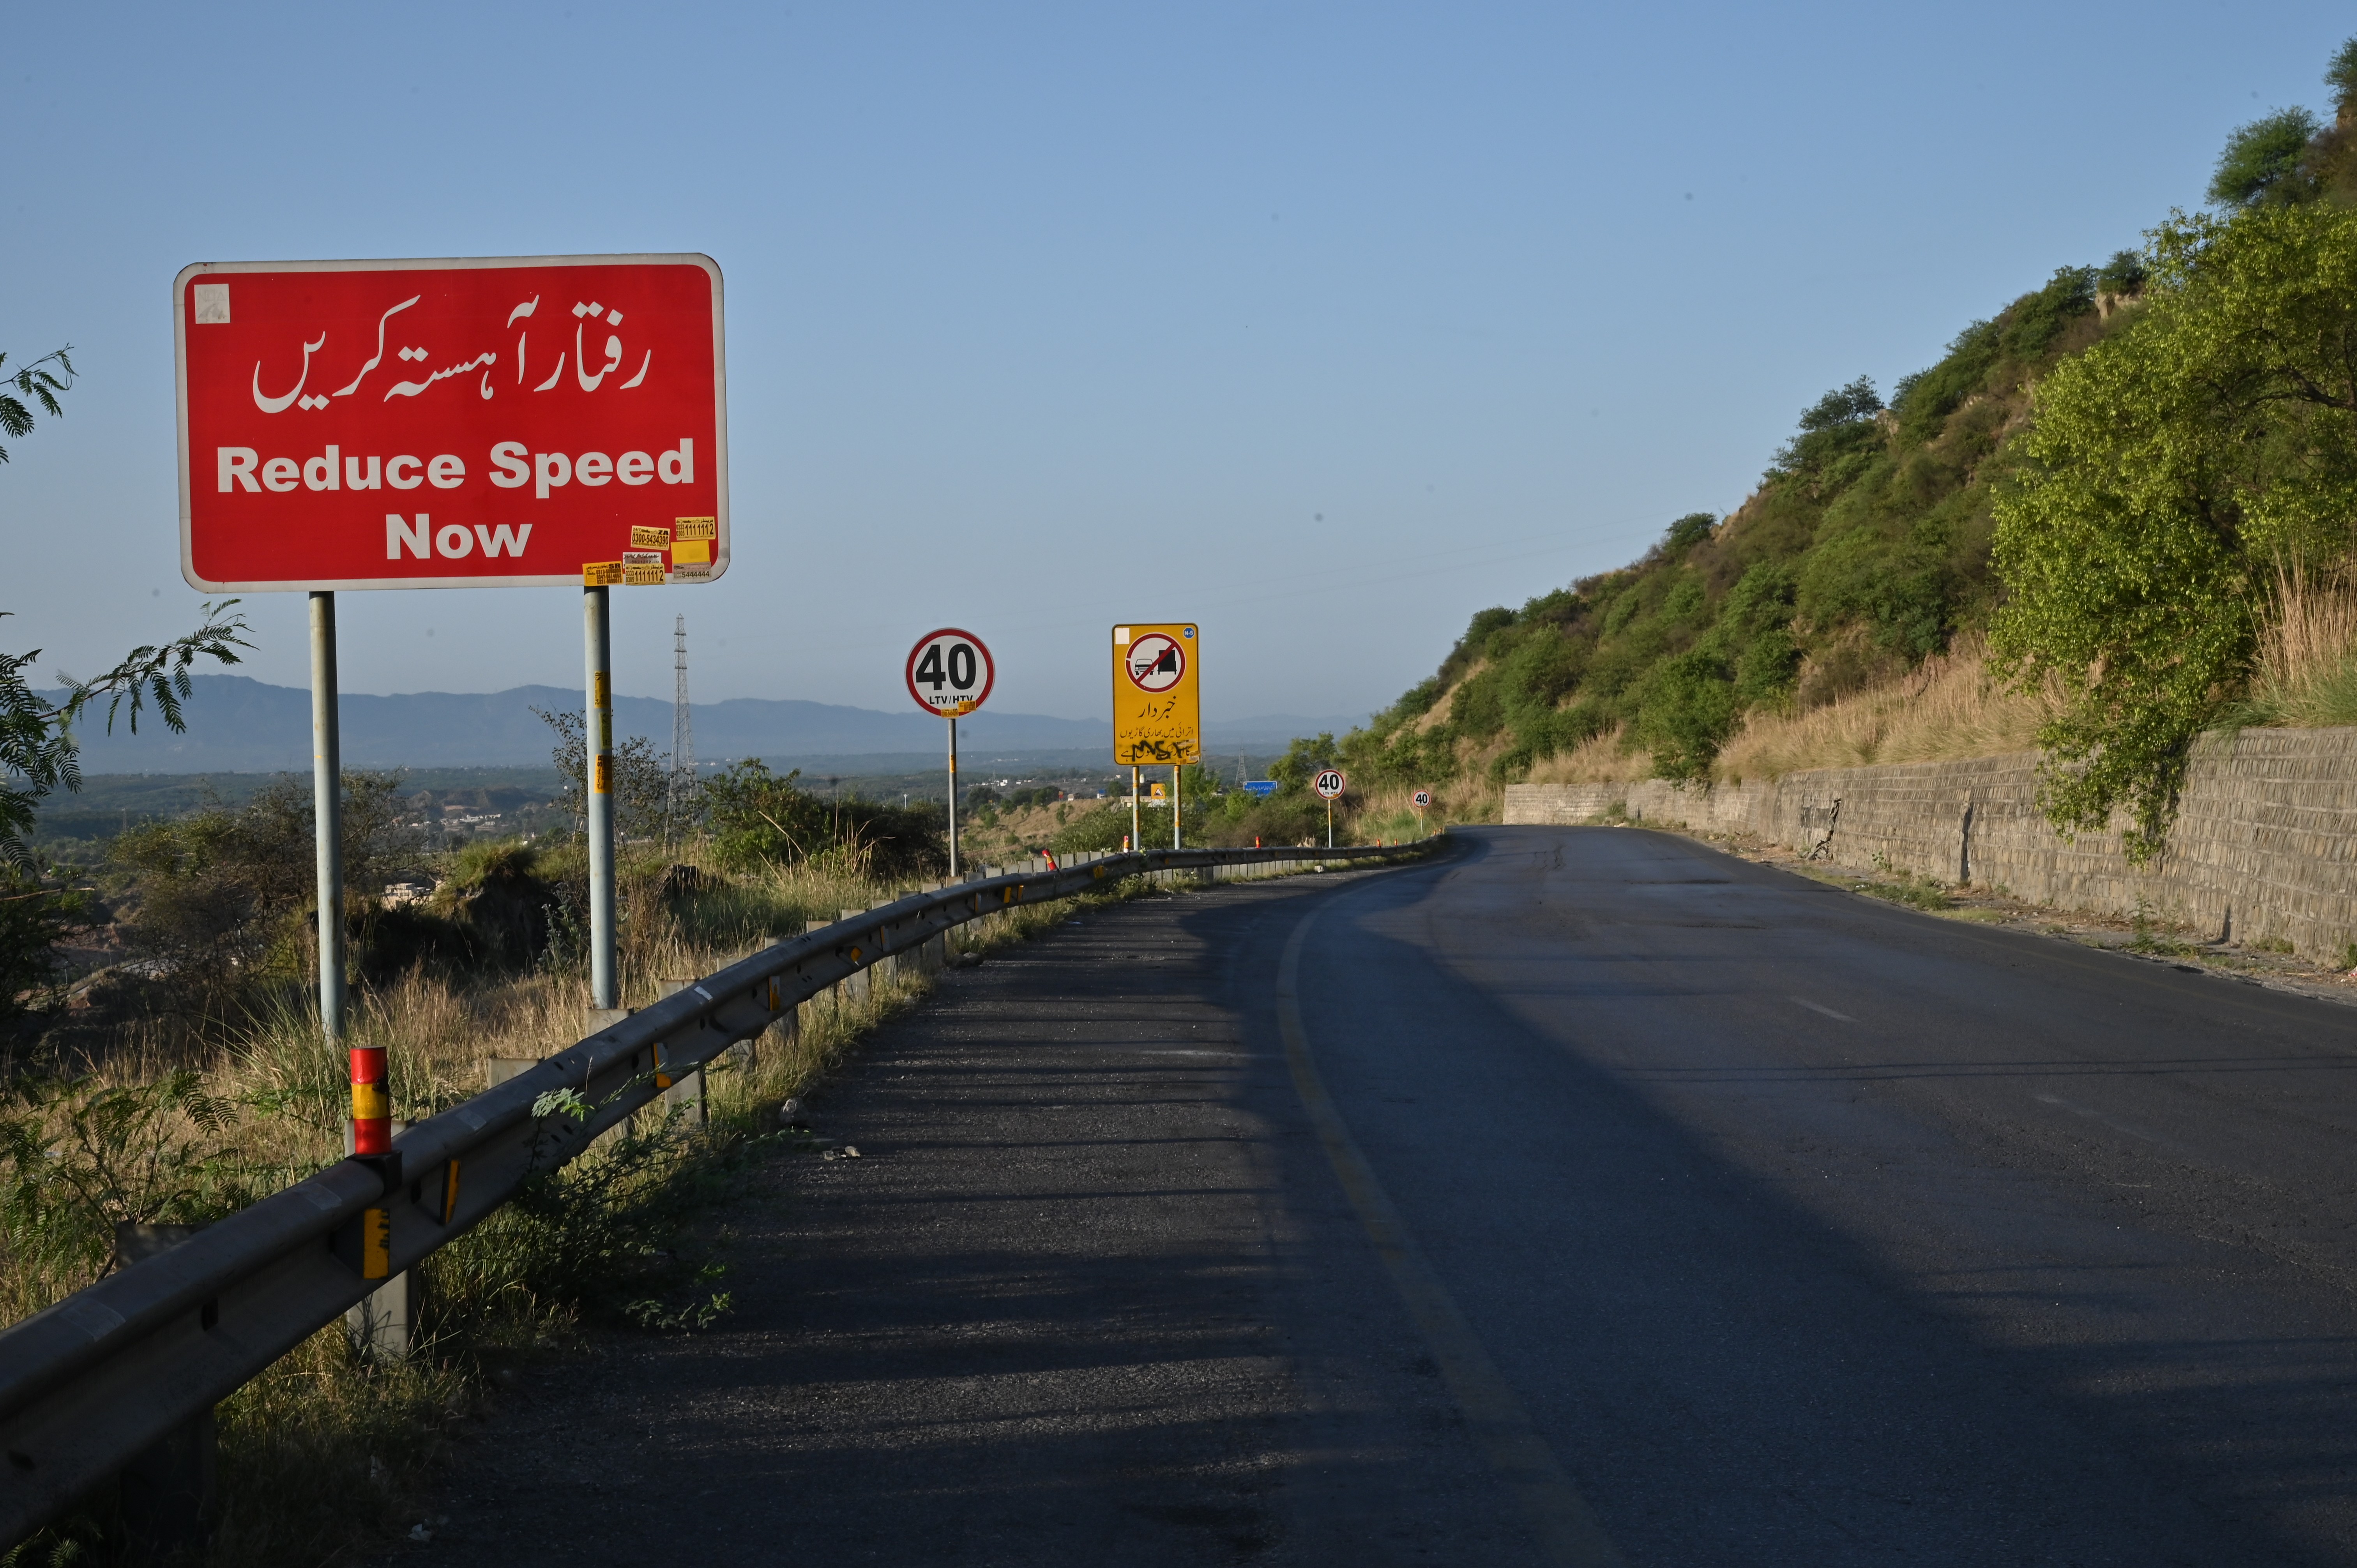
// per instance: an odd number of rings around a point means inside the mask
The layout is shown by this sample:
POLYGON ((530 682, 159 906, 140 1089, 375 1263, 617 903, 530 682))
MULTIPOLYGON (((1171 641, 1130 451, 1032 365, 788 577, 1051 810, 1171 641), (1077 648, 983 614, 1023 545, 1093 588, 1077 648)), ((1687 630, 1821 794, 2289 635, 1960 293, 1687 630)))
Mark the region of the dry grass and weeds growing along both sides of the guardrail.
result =
MULTIPOLYGON (((634 901, 625 1000, 653 1002, 665 976, 709 974, 773 934, 799 934, 808 920, 834 920, 898 891, 905 889, 860 877, 858 868, 794 865, 742 877, 714 870, 705 891, 674 908, 634 901)), ((962 927, 952 946, 1021 941, 1068 913, 1070 903, 1009 910, 962 927)), ((691 1207, 707 1203, 728 1172, 768 1146, 764 1137, 778 1125, 785 1099, 806 1094, 860 1035, 912 1007, 926 988, 917 976, 898 976, 877 981, 858 1002, 834 995, 806 1002, 792 1040, 771 1033, 754 1052, 728 1056, 707 1073, 707 1132, 641 1153, 639 1165, 603 1188, 589 1172, 585 1186, 596 1203, 660 1212, 655 1224, 688 1224, 681 1217, 691 1207)), ((478 1094, 486 1056, 547 1056, 573 1045, 585 1007, 580 976, 462 983, 420 971, 358 997, 349 1045, 389 1047, 394 1113, 420 1120, 478 1094)), ((19 1103, 7 1108, 21 1132, 16 1146, 33 1151, 31 1170, 42 1186, 38 1200, 19 1188, 12 1205, 0 1205, 0 1313, 7 1320, 104 1273, 115 1219, 203 1221, 342 1155, 349 1066, 344 1047, 330 1047, 306 1002, 288 997, 264 1007, 247 1028, 210 1045, 186 1030, 134 1023, 99 1063, 73 1082, 19 1085, 19 1103), (177 1099, 158 1092, 172 1082, 184 1085, 177 1099), (90 1203, 66 1191, 57 1174, 94 1167, 85 1158, 87 1139, 75 1144, 75 1118, 87 1122, 90 1106, 111 1103, 108 1096, 151 1096, 156 1113, 137 1137, 115 1137, 101 1148, 97 1165, 134 1167, 141 1148, 160 1153, 151 1179, 115 1184, 115 1198, 90 1203), (66 1158, 42 1160, 45 1148, 66 1158)), ((613 1158, 625 1155, 601 1151, 568 1172, 613 1158)), ((471 1412, 486 1370, 563 1344, 582 1316, 577 1299, 535 1285, 552 1273, 540 1254, 568 1224, 519 1219, 511 1205, 429 1259, 422 1269, 424 1339, 405 1363, 361 1361, 342 1325, 332 1325, 231 1396, 222 1405, 224 1511, 212 1561, 264 1568, 339 1561, 370 1530, 408 1528, 415 1521, 403 1511, 408 1497, 453 1427, 471 1412)), ((87 1514, 71 1533, 101 1547, 106 1509, 87 1514)), ((35 1549, 38 1556, 47 1551, 35 1549)))

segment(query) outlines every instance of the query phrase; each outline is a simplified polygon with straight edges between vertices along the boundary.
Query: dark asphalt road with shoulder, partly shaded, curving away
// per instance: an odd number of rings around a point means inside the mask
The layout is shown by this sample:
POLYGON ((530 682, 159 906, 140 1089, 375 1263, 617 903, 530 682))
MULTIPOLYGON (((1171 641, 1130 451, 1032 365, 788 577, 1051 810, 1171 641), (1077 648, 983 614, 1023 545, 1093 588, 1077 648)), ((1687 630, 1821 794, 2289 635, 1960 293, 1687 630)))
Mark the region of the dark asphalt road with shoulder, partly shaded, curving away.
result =
POLYGON ((948 976, 401 1556, 2357 1561, 2357 1012, 1464 837, 948 976))

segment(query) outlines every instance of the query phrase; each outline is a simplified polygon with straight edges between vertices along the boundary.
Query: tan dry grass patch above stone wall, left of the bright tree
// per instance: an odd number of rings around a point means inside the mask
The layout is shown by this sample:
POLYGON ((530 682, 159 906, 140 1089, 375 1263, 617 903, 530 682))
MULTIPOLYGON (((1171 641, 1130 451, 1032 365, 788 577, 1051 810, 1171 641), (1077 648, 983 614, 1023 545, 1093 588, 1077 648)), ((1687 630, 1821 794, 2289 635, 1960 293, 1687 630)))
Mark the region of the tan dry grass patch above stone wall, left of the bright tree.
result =
POLYGON ((1879 762, 1954 762, 2036 745, 2048 700, 1989 679, 1978 637, 1959 637, 1897 681, 1869 686, 1801 714, 1754 712, 1718 752, 1716 778, 1780 778, 1803 769, 1879 762))

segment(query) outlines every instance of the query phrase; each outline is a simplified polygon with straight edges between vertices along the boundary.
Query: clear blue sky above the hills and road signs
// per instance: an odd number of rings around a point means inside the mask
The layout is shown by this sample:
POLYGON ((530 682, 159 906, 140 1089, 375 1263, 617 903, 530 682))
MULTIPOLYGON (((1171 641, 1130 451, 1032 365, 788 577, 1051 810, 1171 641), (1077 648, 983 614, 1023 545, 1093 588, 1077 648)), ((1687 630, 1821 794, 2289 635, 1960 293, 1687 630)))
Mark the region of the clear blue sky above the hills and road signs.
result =
MULTIPOLYGON (((1468 615, 1742 502, 1883 387, 2324 106, 2345 7, 858 5, 24 9, 0 646, 193 625, 172 274, 705 250, 735 568, 618 592, 618 684, 1105 707, 1110 620, 1204 627, 1228 717, 1369 712, 1468 615)), ((302 599, 247 670, 304 684, 302 599)), ((349 691, 577 684, 570 589, 344 594, 349 691)))

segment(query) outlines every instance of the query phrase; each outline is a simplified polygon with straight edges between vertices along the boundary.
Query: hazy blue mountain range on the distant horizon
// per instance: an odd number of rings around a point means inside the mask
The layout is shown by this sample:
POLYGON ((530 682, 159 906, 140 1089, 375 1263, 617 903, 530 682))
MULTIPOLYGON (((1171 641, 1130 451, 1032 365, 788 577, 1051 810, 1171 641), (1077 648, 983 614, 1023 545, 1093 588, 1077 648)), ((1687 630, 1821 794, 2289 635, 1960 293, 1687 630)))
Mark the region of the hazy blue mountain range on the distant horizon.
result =
MULTIPOLYGON (((577 712, 582 693, 563 686, 509 691, 412 691, 342 698, 344 766, 523 766, 547 764, 554 733, 533 707, 577 712)), ((940 719, 922 712, 877 712, 834 703, 731 698, 695 703, 695 755, 702 762, 764 757, 808 764, 834 757, 931 757, 943 747, 940 719)), ((615 738, 646 736, 672 750, 672 705, 658 698, 615 698, 615 738)), ((1266 714, 1204 726, 1211 752, 1280 750, 1294 736, 1343 731, 1360 717, 1303 719, 1266 714)), ((200 674, 189 700, 189 731, 174 736, 153 719, 132 736, 120 722, 85 724, 85 773, 276 773, 311 766, 311 693, 269 686, 243 674, 200 674)), ((976 752, 1113 752, 1105 719, 978 712, 959 719, 959 750, 976 752)))

